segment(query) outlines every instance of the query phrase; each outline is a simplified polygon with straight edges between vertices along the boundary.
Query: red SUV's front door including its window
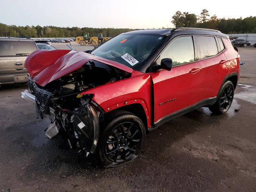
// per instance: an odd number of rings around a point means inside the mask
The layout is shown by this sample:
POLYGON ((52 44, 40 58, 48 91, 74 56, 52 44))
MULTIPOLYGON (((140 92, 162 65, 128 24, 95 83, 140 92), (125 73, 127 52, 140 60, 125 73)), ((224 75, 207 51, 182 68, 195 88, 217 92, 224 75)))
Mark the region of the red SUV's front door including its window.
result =
POLYGON ((200 68, 195 61, 192 36, 173 39, 161 53, 159 60, 172 59, 171 71, 152 72, 154 84, 154 124, 169 119, 195 104, 200 90, 200 68))

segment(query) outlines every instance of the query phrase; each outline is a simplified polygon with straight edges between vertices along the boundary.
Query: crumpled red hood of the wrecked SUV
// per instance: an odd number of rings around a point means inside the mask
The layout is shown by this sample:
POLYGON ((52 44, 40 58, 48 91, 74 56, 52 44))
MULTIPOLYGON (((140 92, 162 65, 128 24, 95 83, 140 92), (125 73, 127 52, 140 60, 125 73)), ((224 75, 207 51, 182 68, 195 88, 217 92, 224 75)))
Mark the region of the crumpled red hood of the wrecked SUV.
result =
POLYGON ((132 73, 133 69, 121 63, 95 55, 71 50, 36 50, 25 60, 25 68, 33 81, 40 86, 81 68, 89 60, 96 60, 107 65, 132 73))

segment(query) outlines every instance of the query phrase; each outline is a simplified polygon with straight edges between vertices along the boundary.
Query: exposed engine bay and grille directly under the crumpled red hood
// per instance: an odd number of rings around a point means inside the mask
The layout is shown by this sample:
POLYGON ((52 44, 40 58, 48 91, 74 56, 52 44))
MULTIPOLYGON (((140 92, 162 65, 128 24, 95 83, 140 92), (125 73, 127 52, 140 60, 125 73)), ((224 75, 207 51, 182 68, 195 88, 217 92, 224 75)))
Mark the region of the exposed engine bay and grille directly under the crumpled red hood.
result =
POLYGON ((114 69, 98 61, 88 61, 80 69, 70 72, 61 78, 50 82, 44 87, 28 78, 31 93, 36 96, 38 115, 50 114, 49 108, 58 106, 60 109, 73 110, 88 103, 91 95, 80 93, 109 82, 115 82, 129 77, 127 73, 114 69))

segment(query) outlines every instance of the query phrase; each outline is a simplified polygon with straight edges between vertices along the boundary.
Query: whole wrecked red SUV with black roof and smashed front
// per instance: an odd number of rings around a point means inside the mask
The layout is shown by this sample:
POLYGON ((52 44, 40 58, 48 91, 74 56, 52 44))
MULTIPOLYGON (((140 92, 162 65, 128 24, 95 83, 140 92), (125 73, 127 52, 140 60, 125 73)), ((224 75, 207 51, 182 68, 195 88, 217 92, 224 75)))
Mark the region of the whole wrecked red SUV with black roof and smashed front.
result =
POLYGON ((123 33, 91 51, 37 50, 25 61, 23 98, 49 116, 45 134, 98 153, 105 167, 134 159, 146 133, 196 108, 225 113, 239 80, 239 55, 216 30, 123 33))

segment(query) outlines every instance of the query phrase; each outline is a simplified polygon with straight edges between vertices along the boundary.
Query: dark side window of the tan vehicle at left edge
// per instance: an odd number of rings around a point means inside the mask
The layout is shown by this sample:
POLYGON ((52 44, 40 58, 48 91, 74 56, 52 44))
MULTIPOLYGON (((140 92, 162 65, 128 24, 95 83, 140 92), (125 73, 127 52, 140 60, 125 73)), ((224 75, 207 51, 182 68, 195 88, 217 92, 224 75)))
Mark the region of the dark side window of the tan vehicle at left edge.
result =
POLYGON ((0 41, 0 56, 27 56, 35 50, 34 41, 0 41))

